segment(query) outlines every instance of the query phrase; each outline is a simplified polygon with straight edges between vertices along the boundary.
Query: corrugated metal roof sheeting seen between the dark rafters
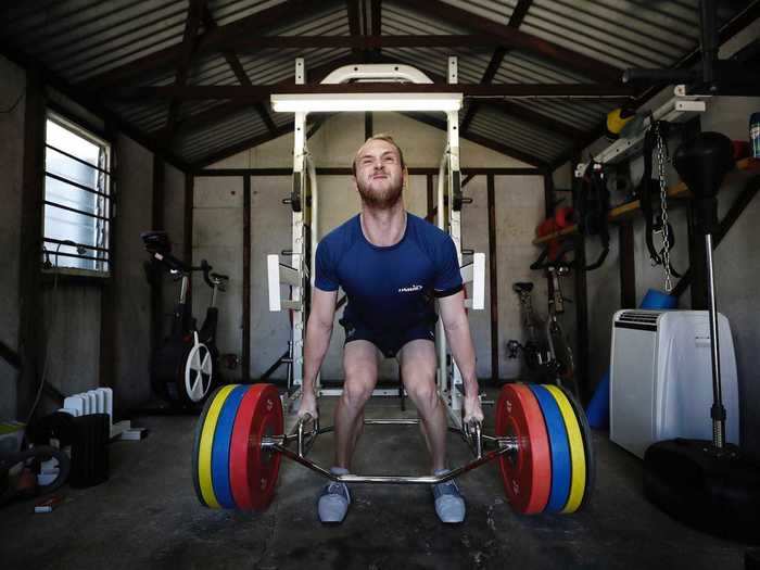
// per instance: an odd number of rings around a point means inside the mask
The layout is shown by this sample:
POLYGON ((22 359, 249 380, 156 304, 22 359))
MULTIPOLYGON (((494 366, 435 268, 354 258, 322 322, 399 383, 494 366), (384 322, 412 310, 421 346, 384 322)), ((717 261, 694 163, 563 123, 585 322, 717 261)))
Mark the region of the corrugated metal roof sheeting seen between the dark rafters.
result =
MULTIPOLYGON (((506 25, 517 0, 441 0, 453 9, 465 11, 506 25)), ((520 31, 561 48, 593 58, 605 64, 630 66, 670 66, 682 60, 698 45, 699 0, 534 0, 520 26, 520 31)), ((301 4, 300 4, 301 5, 301 4)), ((253 85, 290 81, 294 59, 306 59, 307 71, 345 60, 351 48, 252 49, 244 37, 271 36, 347 36, 351 34, 349 11, 344 0, 314 0, 305 8, 288 9, 287 0, 208 0, 213 23, 206 27, 240 26, 230 51, 238 58, 243 73, 253 85), (269 10, 282 20, 257 29, 257 16, 267 17, 269 10), (249 20, 245 20, 249 18, 249 20)), ((0 7, 0 37, 16 52, 36 60, 72 85, 86 85, 105 72, 122 69, 130 62, 147 61, 144 71, 117 83, 121 86, 174 85, 177 71, 172 65, 153 68, 151 58, 167 48, 181 46, 188 15, 188 0, 27 0, 0 7), (135 76, 137 75, 137 76, 135 76)), ((363 34, 372 29, 369 0, 362 0, 359 27, 363 34)), ((740 2, 719 2, 719 22, 724 23, 742 8, 740 2)), ((445 8, 443 9, 445 10, 445 8)), ((466 18, 445 17, 441 10, 432 13, 429 4, 384 0, 381 12, 383 35, 468 35, 466 18), (411 7, 411 8, 410 8, 411 7)), ((482 46, 460 48, 385 48, 382 56, 400 61, 435 76, 446 76, 449 55, 458 56, 459 81, 481 83, 494 53, 482 46)), ((164 60, 162 60, 164 61, 164 60)), ((166 61, 170 61, 166 60, 166 61)), ((587 84, 583 73, 525 49, 507 49, 492 80, 494 84, 587 84)), ((238 85, 239 77, 227 54, 219 50, 202 52, 193 58, 187 85, 238 85)), ((479 105, 469 125, 469 132, 506 147, 522 150, 540 161, 550 162, 573 143, 568 128, 591 132, 616 103, 606 100, 516 99, 509 111, 493 105, 479 105), (525 109, 546 116, 539 126, 519 117, 516 109, 525 109), (559 128, 558 135, 550 122, 559 128)), ((169 100, 136 101, 106 104, 121 117, 145 134, 157 134, 166 127, 169 100)), ((268 106, 268 105, 266 105, 268 106)), ((225 148, 265 137, 267 124, 255 109, 225 101, 182 101, 176 106, 181 128, 172 143, 172 152, 192 163, 217 155, 225 148), (198 117, 217 117, 197 121, 198 117)), ((460 113, 467 115, 469 102, 460 113)), ((270 114, 276 126, 292 117, 270 114)))

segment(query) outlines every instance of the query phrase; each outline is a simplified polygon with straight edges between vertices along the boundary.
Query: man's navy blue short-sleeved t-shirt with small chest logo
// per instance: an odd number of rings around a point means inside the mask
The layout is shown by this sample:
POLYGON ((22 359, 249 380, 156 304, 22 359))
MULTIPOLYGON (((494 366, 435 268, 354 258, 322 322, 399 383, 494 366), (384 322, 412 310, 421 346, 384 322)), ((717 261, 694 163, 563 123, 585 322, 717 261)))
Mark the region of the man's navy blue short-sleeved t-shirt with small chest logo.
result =
POLYGON ((409 213, 404 237, 387 248, 367 241, 358 215, 325 236, 317 246, 315 286, 342 287, 349 297, 343 318, 378 332, 435 322, 433 297, 463 287, 452 238, 409 213))

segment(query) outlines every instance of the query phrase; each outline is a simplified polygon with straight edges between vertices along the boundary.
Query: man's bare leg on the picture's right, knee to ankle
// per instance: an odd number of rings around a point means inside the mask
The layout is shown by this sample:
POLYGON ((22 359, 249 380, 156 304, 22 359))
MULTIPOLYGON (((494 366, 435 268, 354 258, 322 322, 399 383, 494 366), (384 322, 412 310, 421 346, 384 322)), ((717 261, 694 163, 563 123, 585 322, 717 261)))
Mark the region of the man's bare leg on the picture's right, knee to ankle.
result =
POLYGON ((432 471, 443 469, 446 460, 446 410, 435 385, 435 345, 428 340, 415 340, 401 350, 400 363, 404 387, 420 415, 432 471))

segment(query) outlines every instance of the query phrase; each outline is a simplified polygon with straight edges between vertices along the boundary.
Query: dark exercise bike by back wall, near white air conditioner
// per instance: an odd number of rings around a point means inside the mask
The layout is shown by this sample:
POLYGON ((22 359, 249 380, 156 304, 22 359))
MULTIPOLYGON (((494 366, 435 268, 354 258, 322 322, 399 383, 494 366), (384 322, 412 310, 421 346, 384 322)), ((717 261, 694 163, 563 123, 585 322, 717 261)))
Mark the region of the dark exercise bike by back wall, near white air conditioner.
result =
POLYGON ((548 261, 548 248, 531 264, 533 270, 544 270, 548 278, 548 316, 542 320, 533 311, 531 293, 533 283, 530 281, 512 283, 512 291, 520 300, 520 313, 527 340, 521 344, 517 340, 507 342, 509 358, 522 356, 528 368, 529 380, 540 383, 552 383, 570 390, 580 401, 572 347, 558 317, 565 313, 562 287, 559 280, 570 273, 572 262, 566 262, 565 255, 571 244, 560 249, 553 261, 548 261))

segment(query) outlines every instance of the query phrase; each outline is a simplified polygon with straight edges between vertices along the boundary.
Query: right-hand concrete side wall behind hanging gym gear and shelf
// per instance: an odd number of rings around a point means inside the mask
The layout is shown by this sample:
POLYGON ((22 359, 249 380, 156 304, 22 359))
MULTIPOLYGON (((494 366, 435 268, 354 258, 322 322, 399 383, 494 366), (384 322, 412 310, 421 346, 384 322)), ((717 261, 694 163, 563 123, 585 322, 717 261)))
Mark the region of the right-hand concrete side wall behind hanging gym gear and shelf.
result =
MULTIPOLYGON (((756 22, 744 34, 722 48, 721 56, 726 58, 744 43, 756 38, 760 33, 760 22, 756 22)), ((667 100, 672 91, 659 93, 648 107, 655 107, 667 100)), ((701 130, 715 130, 732 139, 747 140, 747 124, 752 112, 760 111, 760 98, 718 97, 708 101, 707 112, 701 115, 701 130)), ((681 142, 677 136, 669 141, 671 153, 681 142)), ((596 152, 607 143, 597 141, 583 152, 596 152)), ((569 166, 563 166, 561 174, 555 174, 555 180, 567 179, 569 166)), ((642 159, 632 161, 631 174, 634 179, 641 177, 642 159)), ((674 185, 677 174, 672 167, 667 169, 668 186, 674 185)), ((723 216, 742 190, 747 175, 734 173, 726 178, 719 194, 719 216, 723 216)), ((760 300, 753 294, 755 283, 760 278, 757 263, 760 254, 760 237, 755 228, 760 214, 760 202, 756 198, 745 210, 742 217, 731 229, 714 253, 717 292, 719 309, 729 318, 736 350, 739 390, 743 415, 743 442, 756 454, 760 454, 760 375, 758 373, 757 347, 760 334, 757 329, 757 315, 760 313, 760 300)), ((676 237, 676 248, 672 253, 672 264, 685 271, 688 267, 688 245, 686 228, 686 207, 683 203, 671 201, 670 218, 676 237)), ((600 269, 587 275, 588 283, 588 325, 591 350, 591 383, 595 384, 609 366, 611 319, 620 307, 620 278, 617 228, 612 228, 610 254, 600 269)), ((634 255, 636 279, 636 303, 641 303, 649 288, 663 290, 663 273, 660 266, 653 267, 645 245, 644 223, 634 221, 634 255)), ((656 238, 656 244, 658 244, 656 238)), ((595 239, 586 246, 587 258, 593 258, 598 251, 595 239)), ((677 279, 674 279, 674 283, 677 279)), ((691 292, 687 290, 680 300, 680 308, 691 308, 691 292)), ((706 421, 708 421, 706 411, 706 421)))

